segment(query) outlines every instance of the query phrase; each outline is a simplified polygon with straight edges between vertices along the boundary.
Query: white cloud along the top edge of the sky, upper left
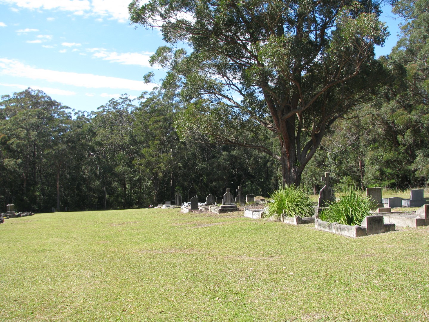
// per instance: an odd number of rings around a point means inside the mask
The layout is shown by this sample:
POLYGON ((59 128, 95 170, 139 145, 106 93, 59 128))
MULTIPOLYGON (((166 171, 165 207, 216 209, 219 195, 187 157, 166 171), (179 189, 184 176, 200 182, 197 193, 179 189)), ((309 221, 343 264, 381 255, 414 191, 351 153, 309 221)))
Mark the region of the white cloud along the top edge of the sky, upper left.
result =
MULTIPOLYGON (((128 5, 130 0, 1 0, 3 3, 25 9, 63 10, 76 15, 94 15, 128 21, 128 5)), ((145 3, 147 1, 142 1, 145 3)), ((11 8, 17 10, 16 8, 11 8)), ((49 19, 49 18, 48 18, 49 19)))

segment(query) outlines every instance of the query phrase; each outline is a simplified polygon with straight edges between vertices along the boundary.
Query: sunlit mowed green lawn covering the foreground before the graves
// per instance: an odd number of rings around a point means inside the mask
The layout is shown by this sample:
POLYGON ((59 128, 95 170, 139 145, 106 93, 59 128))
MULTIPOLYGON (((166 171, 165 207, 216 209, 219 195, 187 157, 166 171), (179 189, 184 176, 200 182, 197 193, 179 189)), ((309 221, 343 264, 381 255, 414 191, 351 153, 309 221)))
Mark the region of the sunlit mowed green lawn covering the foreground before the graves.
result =
POLYGON ((3 321, 429 320, 428 227, 143 209, 7 219, 0 243, 3 321))

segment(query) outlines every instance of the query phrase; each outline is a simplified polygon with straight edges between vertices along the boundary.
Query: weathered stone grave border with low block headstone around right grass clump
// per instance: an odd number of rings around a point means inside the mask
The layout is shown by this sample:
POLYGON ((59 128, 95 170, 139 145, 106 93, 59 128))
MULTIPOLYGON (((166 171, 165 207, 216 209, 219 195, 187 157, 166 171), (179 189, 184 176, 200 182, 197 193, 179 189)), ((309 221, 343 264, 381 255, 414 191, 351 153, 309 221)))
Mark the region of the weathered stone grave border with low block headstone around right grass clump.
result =
POLYGON ((314 228, 347 237, 362 237, 367 235, 387 233, 395 230, 395 224, 384 223, 382 215, 366 216, 360 225, 344 225, 338 222, 314 220, 314 228))

